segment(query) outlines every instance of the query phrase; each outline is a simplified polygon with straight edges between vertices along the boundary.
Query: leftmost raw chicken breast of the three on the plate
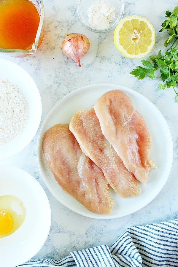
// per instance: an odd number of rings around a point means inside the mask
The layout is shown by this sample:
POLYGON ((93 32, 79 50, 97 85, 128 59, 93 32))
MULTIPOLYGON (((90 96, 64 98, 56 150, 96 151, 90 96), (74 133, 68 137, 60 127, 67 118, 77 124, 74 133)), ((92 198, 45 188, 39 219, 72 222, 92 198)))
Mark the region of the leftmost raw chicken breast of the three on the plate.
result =
POLYGON ((56 124, 45 133, 42 150, 58 184, 94 213, 111 212, 114 201, 108 183, 94 162, 86 157, 69 124, 56 124))

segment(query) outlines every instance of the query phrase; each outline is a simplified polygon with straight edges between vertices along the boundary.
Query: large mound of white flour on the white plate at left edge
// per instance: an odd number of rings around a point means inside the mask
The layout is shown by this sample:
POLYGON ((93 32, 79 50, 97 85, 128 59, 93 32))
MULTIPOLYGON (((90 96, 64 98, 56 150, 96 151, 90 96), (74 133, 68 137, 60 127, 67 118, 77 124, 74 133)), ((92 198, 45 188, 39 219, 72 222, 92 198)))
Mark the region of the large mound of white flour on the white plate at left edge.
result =
POLYGON ((19 136, 28 121, 28 102, 17 85, 0 80, 0 145, 19 136))

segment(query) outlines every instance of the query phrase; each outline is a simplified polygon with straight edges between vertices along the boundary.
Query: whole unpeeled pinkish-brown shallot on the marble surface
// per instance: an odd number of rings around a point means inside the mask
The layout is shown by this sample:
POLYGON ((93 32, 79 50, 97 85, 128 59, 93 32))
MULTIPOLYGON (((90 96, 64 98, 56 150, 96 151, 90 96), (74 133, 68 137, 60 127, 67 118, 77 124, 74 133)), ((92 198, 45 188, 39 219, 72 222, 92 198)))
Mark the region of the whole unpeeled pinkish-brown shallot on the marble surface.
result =
POLYGON ((62 51, 66 57, 74 60, 79 67, 82 66, 80 59, 88 52, 90 42, 83 34, 65 34, 62 42, 62 51))

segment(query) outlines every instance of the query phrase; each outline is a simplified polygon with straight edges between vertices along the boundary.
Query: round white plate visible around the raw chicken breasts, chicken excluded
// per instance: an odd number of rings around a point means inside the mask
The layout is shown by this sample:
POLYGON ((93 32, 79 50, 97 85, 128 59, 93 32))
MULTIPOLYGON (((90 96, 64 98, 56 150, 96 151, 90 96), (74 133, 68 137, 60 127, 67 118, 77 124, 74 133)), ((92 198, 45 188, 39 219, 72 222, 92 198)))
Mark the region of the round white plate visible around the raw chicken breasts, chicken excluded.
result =
POLYGON ((144 96, 134 90, 119 85, 97 84, 77 89, 62 98, 48 113, 39 132, 37 159, 42 178, 53 194, 64 206, 87 217, 111 219, 122 217, 146 206, 163 188, 172 166, 173 144, 168 125, 159 110, 144 96), (55 181, 42 152, 42 138, 45 132, 56 123, 69 123, 72 115, 80 108, 89 108, 105 92, 122 90, 131 100, 135 109, 144 117, 152 136, 151 157, 157 169, 152 169, 147 185, 141 185, 141 195, 136 198, 121 198, 111 191, 115 206, 110 214, 95 214, 65 193, 55 181))

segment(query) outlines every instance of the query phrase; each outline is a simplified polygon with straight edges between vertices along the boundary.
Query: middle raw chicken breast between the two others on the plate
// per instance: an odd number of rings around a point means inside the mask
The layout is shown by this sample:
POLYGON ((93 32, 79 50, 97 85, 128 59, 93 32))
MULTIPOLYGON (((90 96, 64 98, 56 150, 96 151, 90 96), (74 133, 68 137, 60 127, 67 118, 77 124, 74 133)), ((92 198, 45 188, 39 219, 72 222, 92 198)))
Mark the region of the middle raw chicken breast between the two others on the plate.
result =
POLYGON ((140 194, 135 177, 125 168, 117 153, 113 156, 111 144, 102 134, 93 107, 78 110, 71 118, 69 129, 77 139, 81 150, 103 171, 107 182, 115 192, 121 197, 140 194))

